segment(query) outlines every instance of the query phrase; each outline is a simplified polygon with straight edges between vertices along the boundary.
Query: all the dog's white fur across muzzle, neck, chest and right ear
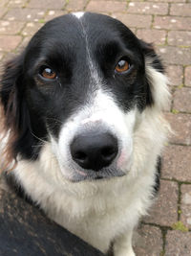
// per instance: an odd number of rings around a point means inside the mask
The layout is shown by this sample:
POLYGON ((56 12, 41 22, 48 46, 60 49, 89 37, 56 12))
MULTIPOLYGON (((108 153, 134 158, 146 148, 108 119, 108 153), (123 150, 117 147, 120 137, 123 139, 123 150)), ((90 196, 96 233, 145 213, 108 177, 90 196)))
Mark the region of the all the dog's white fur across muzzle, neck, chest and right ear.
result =
MULTIPOLYGON (((14 171, 26 192, 53 221, 102 252, 114 242, 115 256, 135 255, 132 232, 138 218, 151 204, 156 160, 168 128, 161 115, 161 107, 168 101, 166 79, 148 64, 146 70, 153 82, 156 105, 139 115, 134 110, 123 116, 109 94, 99 91, 89 107, 79 111, 63 126, 57 145, 52 139, 52 143, 44 145, 39 160, 34 163, 19 161, 14 171), (155 93, 158 90, 162 97, 155 93), (97 104, 101 97, 103 101, 97 104), (122 177, 72 183, 66 178, 69 174, 67 163, 62 162, 56 151, 60 151, 66 160, 67 146, 61 140, 70 137, 70 128, 74 134, 78 127, 96 120, 115 128, 117 136, 124 135, 124 149, 132 147, 131 167, 122 177), (62 170, 60 166, 66 169, 62 170)), ((122 168, 127 171, 125 166, 122 168)))

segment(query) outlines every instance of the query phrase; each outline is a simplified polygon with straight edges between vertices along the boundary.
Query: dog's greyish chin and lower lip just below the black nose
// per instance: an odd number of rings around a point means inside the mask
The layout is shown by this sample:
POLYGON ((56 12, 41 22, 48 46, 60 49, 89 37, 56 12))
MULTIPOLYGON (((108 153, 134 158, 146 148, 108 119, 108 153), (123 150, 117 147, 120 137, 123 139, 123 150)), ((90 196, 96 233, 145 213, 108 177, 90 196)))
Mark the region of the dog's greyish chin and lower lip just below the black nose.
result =
POLYGON ((121 177, 126 175, 124 172, 121 170, 117 169, 109 169, 109 168, 104 168, 100 171, 92 171, 92 170, 74 170, 73 175, 65 176, 66 179, 70 182, 82 182, 82 181, 101 181, 101 180, 109 180, 111 178, 115 177, 121 177))

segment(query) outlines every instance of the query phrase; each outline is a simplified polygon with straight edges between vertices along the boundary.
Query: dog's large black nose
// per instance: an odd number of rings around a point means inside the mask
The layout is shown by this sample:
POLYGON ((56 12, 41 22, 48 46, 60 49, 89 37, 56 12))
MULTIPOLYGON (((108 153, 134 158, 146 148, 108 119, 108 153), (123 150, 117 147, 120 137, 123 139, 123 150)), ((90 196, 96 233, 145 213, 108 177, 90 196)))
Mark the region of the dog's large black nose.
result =
POLYGON ((79 134, 71 144, 74 161, 82 168, 94 171, 109 166, 117 152, 117 138, 109 132, 89 131, 79 134))

